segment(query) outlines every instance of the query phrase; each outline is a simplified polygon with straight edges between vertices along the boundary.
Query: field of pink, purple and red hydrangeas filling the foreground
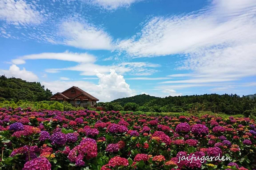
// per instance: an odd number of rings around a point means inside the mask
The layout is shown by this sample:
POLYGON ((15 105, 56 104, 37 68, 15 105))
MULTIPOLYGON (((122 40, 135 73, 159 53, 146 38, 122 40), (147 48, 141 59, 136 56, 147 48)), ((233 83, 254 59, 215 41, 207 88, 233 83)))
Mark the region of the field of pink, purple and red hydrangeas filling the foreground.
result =
POLYGON ((0 108, 0 141, 0 169, 256 169, 249 118, 0 108))

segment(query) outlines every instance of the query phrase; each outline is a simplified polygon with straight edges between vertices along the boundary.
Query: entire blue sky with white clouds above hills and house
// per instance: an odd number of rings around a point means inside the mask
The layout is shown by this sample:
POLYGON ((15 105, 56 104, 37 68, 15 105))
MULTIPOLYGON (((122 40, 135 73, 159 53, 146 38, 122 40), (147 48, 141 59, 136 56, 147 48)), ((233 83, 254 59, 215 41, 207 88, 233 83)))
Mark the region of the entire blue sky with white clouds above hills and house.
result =
POLYGON ((0 44, 0 75, 53 93, 256 93, 256 0, 1 0, 0 44))

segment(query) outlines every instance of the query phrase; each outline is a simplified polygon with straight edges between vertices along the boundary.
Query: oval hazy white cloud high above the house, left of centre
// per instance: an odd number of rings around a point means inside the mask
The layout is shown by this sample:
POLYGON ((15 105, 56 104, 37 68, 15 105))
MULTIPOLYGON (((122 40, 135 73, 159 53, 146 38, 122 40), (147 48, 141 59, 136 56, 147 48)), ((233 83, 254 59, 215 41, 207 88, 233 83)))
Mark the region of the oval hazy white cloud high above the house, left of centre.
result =
MULTIPOLYGON (((112 49, 112 38, 103 29, 89 24, 79 18, 70 18, 59 26, 60 40, 69 46, 84 49, 112 49)), ((60 43, 60 42, 56 42, 60 43)))

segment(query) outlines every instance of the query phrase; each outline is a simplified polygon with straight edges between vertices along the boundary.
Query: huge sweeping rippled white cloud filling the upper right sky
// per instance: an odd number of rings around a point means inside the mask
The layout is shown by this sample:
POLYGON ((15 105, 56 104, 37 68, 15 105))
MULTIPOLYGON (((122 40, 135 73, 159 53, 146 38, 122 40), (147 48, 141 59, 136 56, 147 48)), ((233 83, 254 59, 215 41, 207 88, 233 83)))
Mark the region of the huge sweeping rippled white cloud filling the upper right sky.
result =
POLYGON ((256 1, 213 0, 187 15, 154 17, 117 48, 132 57, 179 54, 177 69, 189 77, 164 83, 210 83, 235 81, 256 75, 256 1))

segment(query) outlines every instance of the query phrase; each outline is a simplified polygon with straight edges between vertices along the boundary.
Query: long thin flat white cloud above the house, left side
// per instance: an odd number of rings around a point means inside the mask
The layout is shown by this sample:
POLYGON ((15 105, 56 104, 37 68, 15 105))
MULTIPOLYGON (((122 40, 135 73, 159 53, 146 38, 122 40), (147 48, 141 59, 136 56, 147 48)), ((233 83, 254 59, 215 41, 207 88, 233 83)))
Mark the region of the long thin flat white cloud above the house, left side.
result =
POLYGON ((24 55, 12 60, 14 64, 24 64, 25 60, 38 60, 38 59, 52 59, 52 60, 63 60, 63 61, 73 61, 77 63, 93 63, 96 61, 94 55, 87 53, 40 53, 40 54, 31 54, 24 55))

